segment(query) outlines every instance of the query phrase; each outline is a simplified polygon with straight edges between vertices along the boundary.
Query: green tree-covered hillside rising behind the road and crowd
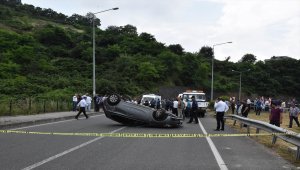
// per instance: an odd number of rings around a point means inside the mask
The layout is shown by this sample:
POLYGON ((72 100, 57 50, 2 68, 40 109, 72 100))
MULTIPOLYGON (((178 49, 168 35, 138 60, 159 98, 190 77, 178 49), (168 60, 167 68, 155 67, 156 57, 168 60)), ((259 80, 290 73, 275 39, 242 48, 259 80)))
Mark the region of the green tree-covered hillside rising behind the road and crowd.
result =
MULTIPOLYGON (((51 9, 0 0, 0 99, 70 98, 92 93, 92 20, 51 9)), ((101 21, 95 20, 100 26, 101 21)), ((137 96, 161 86, 210 91, 211 47, 185 52, 166 46, 135 26, 96 29, 96 91, 137 96)), ((293 56, 299 57, 299 56, 293 56)), ((298 97, 300 61, 245 54, 237 63, 215 60, 214 91, 235 94, 239 73, 244 95, 298 97)))

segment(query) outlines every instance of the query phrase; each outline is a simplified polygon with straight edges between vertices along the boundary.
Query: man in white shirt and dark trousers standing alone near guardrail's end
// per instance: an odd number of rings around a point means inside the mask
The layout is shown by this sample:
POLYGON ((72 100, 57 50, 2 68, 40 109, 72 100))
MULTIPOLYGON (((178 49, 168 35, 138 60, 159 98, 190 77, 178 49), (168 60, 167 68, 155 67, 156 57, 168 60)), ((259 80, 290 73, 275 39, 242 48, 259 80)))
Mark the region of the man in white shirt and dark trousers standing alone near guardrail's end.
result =
POLYGON ((222 100, 222 98, 218 98, 215 102, 215 109, 217 112, 217 128, 215 131, 224 130, 224 113, 229 109, 228 105, 222 100), (221 129, 220 129, 221 124, 221 129))

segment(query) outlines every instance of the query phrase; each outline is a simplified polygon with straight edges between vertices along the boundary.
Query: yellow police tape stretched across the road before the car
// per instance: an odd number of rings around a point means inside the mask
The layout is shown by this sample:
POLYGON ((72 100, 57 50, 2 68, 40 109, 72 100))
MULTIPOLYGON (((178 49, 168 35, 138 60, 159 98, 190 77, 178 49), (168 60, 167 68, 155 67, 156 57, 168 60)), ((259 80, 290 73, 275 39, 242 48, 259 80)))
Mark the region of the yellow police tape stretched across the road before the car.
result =
POLYGON ((64 133, 64 132, 30 132, 16 130, 0 130, 4 134, 31 134, 55 136, 92 136, 92 137, 118 137, 118 138, 204 138, 204 137, 241 137, 241 136, 273 136, 287 135, 285 133, 238 133, 238 134, 176 134, 176 133, 64 133))

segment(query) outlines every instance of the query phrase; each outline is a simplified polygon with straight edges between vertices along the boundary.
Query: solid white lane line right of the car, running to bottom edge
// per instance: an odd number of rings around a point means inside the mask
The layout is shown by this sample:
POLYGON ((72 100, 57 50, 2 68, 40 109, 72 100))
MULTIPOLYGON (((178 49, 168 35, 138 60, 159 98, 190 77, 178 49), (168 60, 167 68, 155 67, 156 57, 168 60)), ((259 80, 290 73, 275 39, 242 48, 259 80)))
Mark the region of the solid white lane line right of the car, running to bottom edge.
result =
MULTIPOLYGON (((198 118, 197 118, 197 119, 198 119, 198 118)), ((207 132, 206 132, 206 130, 204 129, 204 126, 202 125, 200 119, 198 119, 198 122, 199 122, 199 126, 200 126, 200 129, 202 130, 202 132, 203 132, 205 135, 207 135, 207 132)), ((213 152, 213 154, 214 154, 214 156, 215 156, 215 158, 216 158, 216 161, 217 161, 217 163, 218 163, 220 169, 221 169, 221 170, 228 170, 226 164, 224 163, 224 161, 223 161, 223 159, 222 159, 222 157, 221 157, 221 155, 220 155, 218 149, 216 148, 216 146, 215 146, 215 144, 213 143, 213 141, 211 140, 211 138, 210 138, 210 137, 205 137, 205 138, 206 138, 206 140, 207 140, 207 142, 208 142, 208 144, 209 144, 209 146, 210 146, 211 151, 213 152)))

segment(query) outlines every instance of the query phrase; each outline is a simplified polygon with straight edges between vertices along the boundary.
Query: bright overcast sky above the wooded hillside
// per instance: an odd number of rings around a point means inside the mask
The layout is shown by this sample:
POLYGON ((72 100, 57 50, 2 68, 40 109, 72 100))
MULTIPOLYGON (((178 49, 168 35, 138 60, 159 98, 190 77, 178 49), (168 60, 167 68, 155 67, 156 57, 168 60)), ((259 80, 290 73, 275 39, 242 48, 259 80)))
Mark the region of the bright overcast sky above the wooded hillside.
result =
POLYGON ((157 41, 181 44, 186 52, 215 46, 215 57, 236 62, 247 53, 300 59, 300 0, 22 0, 71 16, 97 14, 101 29, 137 27, 157 41))

